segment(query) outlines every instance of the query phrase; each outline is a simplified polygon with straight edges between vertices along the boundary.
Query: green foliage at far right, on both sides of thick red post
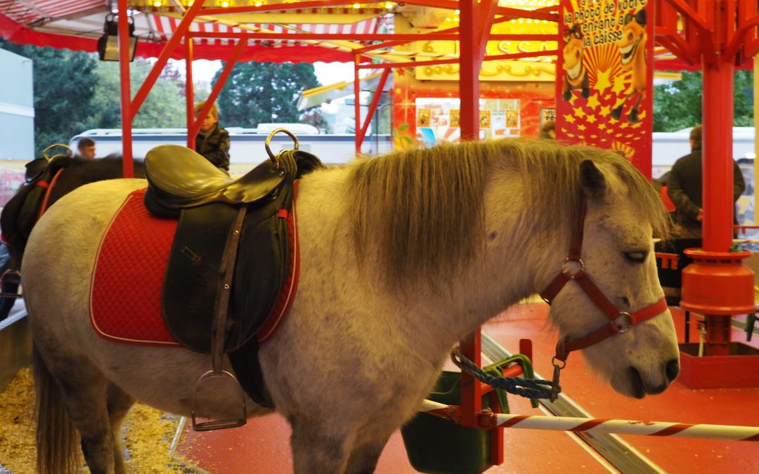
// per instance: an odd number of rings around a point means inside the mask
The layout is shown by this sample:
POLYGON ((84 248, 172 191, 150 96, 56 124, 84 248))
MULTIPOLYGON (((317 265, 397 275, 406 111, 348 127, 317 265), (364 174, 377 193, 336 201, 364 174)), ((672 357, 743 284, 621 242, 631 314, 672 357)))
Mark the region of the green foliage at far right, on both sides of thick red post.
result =
MULTIPOLYGON (((683 72, 682 80, 654 87, 653 131, 672 132, 701 124, 702 86, 701 72, 683 72)), ((754 124, 753 87, 752 71, 735 71, 733 125, 736 127, 754 124)))

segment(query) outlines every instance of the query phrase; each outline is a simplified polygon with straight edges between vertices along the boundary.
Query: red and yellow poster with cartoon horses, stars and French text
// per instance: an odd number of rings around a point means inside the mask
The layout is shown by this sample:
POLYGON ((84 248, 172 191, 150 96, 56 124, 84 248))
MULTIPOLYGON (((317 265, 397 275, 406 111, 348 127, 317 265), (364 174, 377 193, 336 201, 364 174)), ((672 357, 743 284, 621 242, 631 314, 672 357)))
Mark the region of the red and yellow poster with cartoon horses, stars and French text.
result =
POLYGON ((653 2, 562 0, 556 138, 614 149, 650 178, 653 2))

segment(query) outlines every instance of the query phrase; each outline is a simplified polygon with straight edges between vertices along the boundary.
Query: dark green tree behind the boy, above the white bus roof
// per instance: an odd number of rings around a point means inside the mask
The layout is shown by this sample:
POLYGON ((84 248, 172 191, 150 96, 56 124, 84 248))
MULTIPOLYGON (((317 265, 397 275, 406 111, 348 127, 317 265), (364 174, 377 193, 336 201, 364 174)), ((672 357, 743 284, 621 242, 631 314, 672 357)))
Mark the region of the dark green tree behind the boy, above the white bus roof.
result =
MULTIPOLYGON (((219 79, 216 72, 213 83, 219 79)), ((257 127, 271 122, 298 122, 298 95, 319 86, 313 64, 235 64, 219 94, 219 121, 226 127, 257 127)), ((313 118, 312 118, 313 119, 313 118)))

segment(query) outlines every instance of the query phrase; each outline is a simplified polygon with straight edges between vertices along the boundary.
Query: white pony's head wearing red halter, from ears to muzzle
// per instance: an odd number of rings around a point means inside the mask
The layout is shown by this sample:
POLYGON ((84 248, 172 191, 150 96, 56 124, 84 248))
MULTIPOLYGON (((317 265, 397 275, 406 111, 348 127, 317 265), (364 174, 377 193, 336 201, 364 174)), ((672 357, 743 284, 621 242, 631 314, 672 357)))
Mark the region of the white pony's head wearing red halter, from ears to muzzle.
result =
POLYGON ((584 228, 581 255, 572 262, 572 251, 565 249, 570 262, 559 269, 559 254, 553 273, 581 272, 552 295, 551 315, 561 341, 557 356, 566 356, 563 348, 582 349, 619 393, 658 394, 679 374, 676 334, 652 240, 654 231, 666 233, 668 222, 653 188, 628 162, 613 153, 578 152, 587 153, 578 166, 578 200, 585 207, 584 216, 576 217, 584 228))

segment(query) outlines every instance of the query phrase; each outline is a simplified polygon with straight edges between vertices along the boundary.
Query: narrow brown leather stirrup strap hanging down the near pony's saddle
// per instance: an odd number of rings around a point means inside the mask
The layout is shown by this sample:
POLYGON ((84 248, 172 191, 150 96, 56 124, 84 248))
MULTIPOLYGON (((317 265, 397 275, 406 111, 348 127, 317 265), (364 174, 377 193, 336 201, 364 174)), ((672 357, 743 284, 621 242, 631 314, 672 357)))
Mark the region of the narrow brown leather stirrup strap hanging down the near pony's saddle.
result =
POLYGON ((235 276, 235 261, 237 260, 238 246, 240 244, 240 233, 242 224, 245 220, 247 206, 241 206, 238 211, 235 225, 232 227, 229 240, 226 245, 222 268, 219 272, 222 278, 219 281, 219 290, 216 299, 216 308, 213 315, 213 337, 211 338, 211 361, 213 364, 214 375, 222 373, 222 358, 224 356, 224 338, 226 335, 225 327, 227 323, 227 313, 229 310, 229 297, 232 290, 232 278, 235 276))

